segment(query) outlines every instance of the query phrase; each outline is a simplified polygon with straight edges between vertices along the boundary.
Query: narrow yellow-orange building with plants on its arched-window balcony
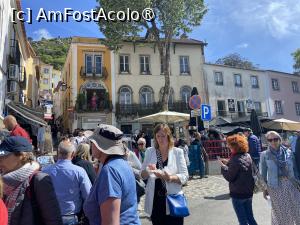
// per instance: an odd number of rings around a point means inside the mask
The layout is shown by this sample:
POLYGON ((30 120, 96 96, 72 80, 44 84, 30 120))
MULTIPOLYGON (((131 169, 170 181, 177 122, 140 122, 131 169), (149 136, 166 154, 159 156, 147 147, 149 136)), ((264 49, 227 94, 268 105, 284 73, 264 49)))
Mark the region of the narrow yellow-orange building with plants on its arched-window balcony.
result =
POLYGON ((100 39, 72 38, 60 91, 64 131, 112 123, 112 59, 100 39))

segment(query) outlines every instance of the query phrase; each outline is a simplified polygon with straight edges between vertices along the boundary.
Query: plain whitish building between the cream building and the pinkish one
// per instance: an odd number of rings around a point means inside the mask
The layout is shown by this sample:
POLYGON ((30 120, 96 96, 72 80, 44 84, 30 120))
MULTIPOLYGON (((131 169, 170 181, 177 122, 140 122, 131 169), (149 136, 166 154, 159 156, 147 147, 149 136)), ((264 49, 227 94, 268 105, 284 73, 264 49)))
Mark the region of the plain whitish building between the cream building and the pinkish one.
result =
POLYGON ((229 66, 208 64, 204 66, 204 80, 212 116, 236 120, 250 115, 269 115, 266 91, 266 72, 229 66))

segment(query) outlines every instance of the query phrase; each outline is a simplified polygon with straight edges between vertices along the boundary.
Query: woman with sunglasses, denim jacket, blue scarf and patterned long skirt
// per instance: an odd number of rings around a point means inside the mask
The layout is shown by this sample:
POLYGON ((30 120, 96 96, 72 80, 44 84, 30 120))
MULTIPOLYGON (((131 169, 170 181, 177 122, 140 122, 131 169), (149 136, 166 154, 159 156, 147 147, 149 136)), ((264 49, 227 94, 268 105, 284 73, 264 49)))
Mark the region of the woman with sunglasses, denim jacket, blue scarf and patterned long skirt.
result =
POLYGON ((272 225, 300 224, 300 192, 294 155, 282 145, 277 132, 269 131, 266 138, 269 147, 261 153, 260 172, 268 184, 263 195, 271 199, 272 225))

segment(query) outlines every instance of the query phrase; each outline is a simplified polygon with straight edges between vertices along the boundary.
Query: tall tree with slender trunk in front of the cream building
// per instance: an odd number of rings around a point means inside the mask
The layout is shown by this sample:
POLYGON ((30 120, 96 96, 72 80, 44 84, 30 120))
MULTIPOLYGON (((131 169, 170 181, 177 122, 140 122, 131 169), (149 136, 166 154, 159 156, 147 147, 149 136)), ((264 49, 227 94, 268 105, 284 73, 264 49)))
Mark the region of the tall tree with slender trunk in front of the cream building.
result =
POLYGON ((145 8, 153 9, 155 19, 131 22, 98 23, 100 31, 106 37, 104 41, 112 50, 118 51, 124 39, 139 40, 145 33, 144 41, 155 44, 162 59, 165 85, 162 96, 162 110, 168 109, 170 92, 170 47, 172 38, 179 37, 199 26, 207 12, 204 0, 97 0, 99 7, 108 11, 127 11, 127 8, 142 12, 145 8))

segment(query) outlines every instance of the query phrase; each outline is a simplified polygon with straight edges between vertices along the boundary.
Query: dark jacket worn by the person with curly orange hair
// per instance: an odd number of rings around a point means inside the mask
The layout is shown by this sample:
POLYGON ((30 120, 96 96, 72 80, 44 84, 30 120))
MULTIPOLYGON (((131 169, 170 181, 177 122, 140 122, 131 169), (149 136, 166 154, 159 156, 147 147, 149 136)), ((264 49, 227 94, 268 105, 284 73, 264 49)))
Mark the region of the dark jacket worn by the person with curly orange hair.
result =
POLYGON ((238 153, 229 160, 227 166, 228 168, 221 168, 221 172, 229 182, 230 196, 251 198, 254 189, 251 156, 248 153, 238 153))

